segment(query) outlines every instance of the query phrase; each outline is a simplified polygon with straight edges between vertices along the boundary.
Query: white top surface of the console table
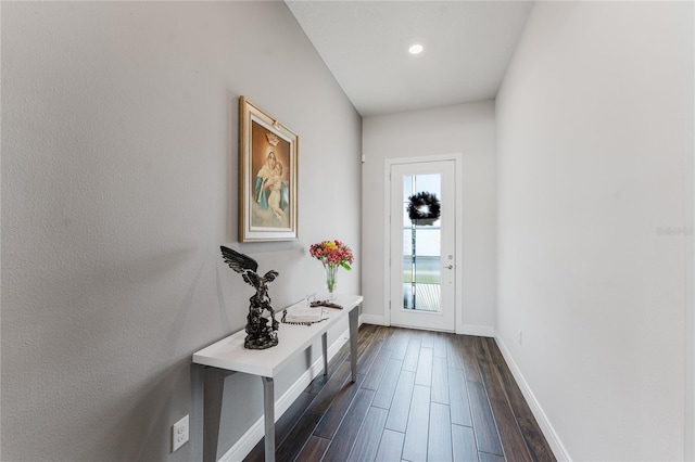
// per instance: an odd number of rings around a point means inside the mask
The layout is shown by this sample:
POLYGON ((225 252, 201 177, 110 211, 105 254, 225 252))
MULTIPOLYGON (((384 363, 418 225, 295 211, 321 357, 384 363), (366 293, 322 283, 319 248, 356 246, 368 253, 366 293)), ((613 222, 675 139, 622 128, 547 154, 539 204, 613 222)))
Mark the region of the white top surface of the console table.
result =
MULTIPOLYGON (((280 322, 277 346, 267 349, 247 349, 243 347, 247 333, 242 330, 194 352, 193 362, 228 371, 274 377, 294 355, 304 351, 319 335, 326 333, 341 319, 348 318, 348 313, 359 306, 362 300, 361 295, 336 295, 332 303, 342 306, 343 309, 323 307, 327 321, 311 325, 280 322)), ((278 310, 275 318, 280 321, 282 311, 278 310)))

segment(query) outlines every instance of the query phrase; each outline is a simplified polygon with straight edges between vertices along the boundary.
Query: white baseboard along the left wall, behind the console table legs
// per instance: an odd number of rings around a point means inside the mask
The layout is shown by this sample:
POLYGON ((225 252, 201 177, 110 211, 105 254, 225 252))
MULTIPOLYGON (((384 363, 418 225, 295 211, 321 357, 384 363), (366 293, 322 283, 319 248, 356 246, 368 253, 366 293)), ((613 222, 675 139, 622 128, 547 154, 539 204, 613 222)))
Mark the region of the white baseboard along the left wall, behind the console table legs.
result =
MULTIPOLYGON (((336 342, 328 347, 328 360, 330 361, 340 348, 350 338, 350 331, 345 330, 336 342)), ((312 367, 304 372, 292 386, 275 401, 275 420, 289 409, 312 381, 324 372, 324 359, 319 357, 312 367)), ((244 433, 241 438, 222 457, 218 462, 242 461, 265 435, 265 422, 263 415, 244 433)))

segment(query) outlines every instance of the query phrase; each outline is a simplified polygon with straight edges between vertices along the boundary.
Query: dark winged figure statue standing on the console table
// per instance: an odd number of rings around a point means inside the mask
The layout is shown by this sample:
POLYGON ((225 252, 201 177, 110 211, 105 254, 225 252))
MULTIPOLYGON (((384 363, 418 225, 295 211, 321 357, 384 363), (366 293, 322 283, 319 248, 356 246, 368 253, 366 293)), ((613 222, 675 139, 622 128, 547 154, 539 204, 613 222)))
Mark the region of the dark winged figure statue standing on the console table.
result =
POLYGON ((278 344, 278 322, 275 320, 275 310, 268 296, 268 283, 275 281, 279 272, 270 270, 263 277, 256 273, 258 264, 248 255, 240 254, 231 248, 220 245, 222 257, 229 268, 241 274, 243 280, 252 285, 256 293, 249 298, 249 316, 247 317, 247 338, 244 348, 266 349, 278 344), (263 311, 270 312, 270 319, 263 317, 263 311))

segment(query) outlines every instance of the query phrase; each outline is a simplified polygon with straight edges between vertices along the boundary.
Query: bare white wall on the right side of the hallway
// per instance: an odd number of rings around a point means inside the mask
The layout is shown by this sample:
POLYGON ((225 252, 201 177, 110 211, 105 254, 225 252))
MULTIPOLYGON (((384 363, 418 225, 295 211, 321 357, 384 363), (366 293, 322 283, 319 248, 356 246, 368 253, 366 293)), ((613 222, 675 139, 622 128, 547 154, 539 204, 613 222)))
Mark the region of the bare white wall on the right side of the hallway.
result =
POLYGON ((539 2, 496 100, 497 335, 573 460, 684 458, 693 51, 692 2, 539 2))

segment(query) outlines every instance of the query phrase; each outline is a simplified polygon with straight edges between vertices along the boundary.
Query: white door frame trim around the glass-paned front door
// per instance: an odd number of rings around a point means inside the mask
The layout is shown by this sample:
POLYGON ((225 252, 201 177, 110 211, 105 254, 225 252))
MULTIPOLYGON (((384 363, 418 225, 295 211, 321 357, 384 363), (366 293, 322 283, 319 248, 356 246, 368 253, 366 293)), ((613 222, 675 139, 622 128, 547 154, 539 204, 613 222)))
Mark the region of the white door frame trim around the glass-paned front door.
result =
MULTIPOLYGON (((454 325, 457 334, 464 333, 464 210, 463 210, 463 154, 438 154, 429 156, 415 156, 415 157, 399 157, 387 158, 383 164, 383 299, 388 306, 388 313, 384 317, 387 325, 391 325, 391 307, 393 305, 391 300, 391 166, 397 164, 413 164, 418 162, 438 162, 438 161, 453 161, 454 162, 454 194, 456 194, 456 220, 454 223, 454 244, 456 245, 456 252, 454 257, 454 265, 456 265, 455 274, 455 287, 454 287, 454 325)), ((400 301, 400 300, 399 300, 400 301)))

